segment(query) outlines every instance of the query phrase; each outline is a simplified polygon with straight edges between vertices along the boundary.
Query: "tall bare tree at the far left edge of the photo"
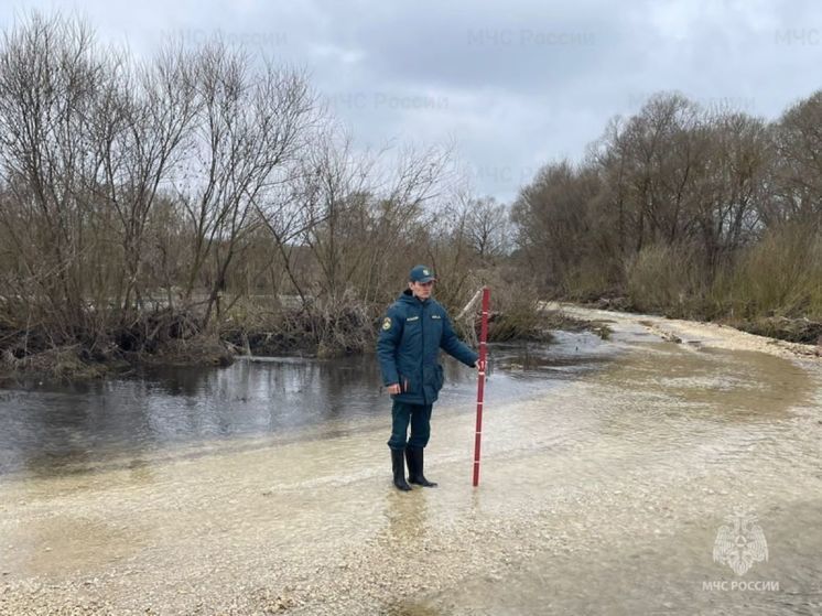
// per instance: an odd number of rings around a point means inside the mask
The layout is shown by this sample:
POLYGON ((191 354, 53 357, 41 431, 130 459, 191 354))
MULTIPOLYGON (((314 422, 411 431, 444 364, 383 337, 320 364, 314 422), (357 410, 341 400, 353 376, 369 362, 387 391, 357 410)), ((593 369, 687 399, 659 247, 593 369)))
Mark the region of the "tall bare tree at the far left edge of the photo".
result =
POLYGON ((89 29, 33 13, 6 32, 0 48, 0 166, 7 207, 0 220, 19 251, 18 294, 55 335, 83 329, 94 280, 85 179, 94 169, 88 109, 106 62, 89 29))

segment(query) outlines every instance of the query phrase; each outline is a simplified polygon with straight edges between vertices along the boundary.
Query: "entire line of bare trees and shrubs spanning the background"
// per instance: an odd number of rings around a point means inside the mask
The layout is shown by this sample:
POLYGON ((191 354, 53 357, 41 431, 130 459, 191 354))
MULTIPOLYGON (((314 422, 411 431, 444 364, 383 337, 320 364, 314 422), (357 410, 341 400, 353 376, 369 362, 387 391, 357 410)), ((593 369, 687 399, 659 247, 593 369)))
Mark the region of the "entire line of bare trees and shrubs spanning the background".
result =
POLYGON ((659 95, 508 207, 450 148, 357 148, 298 69, 34 12, 0 41, 0 363, 361 352, 415 263, 453 310, 490 284, 502 337, 547 294, 820 318, 820 127, 822 94, 774 123, 659 95))

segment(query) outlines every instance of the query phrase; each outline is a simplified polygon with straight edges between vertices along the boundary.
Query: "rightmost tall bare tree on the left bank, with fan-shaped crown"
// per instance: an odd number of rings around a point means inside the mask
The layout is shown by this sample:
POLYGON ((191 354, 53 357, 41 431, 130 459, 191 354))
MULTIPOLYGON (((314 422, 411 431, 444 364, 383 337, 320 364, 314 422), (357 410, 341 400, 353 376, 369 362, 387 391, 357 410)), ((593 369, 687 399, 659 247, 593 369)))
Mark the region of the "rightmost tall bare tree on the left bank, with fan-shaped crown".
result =
POLYGON ((215 305, 219 311, 229 266, 259 224, 256 204, 285 181, 315 105, 304 75, 270 63, 256 69, 223 41, 197 50, 193 79, 197 114, 176 188, 193 238, 184 296, 191 302, 205 282, 207 325, 215 305))

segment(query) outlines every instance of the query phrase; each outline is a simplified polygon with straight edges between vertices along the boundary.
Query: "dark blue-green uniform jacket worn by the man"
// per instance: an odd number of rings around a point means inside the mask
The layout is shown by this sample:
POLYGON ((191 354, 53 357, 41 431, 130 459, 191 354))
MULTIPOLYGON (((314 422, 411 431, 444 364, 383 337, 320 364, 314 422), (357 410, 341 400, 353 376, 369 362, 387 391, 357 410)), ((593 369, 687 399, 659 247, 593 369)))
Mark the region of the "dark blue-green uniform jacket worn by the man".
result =
POLYGON ((386 386, 400 383, 392 396, 409 404, 431 404, 443 386, 440 348, 466 366, 479 356, 463 344, 445 309, 436 301, 420 301, 407 290, 388 309, 377 342, 377 355, 386 386))

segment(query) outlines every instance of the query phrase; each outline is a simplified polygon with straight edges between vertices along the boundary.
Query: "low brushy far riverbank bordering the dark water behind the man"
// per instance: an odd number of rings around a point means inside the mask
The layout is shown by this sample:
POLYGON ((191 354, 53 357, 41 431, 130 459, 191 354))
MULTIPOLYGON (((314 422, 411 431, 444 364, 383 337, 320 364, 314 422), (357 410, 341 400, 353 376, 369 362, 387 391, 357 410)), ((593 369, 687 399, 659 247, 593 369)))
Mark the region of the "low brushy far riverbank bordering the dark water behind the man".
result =
MULTIPOLYGON (((74 343, 48 347, 29 345, 25 332, 6 332, 0 350, 0 387, 31 382, 77 382, 128 375, 156 366, 228 366, 240 356, 298 356, 327 359, 369 354, 376 345, 379 322, 369 322, 361 310, 340 314, 284 313, 255 320, 250 325, 227 325, 202 332, 196 320, 169 313, 147 316, 147 324, 112 331, 108 343, 74 343), (333 342, 329 342, 333 339, 333 342)), ((489 338, 505 342, 549 343, 552 331, 591 331, 607 337, 607 327, 562 311, 543 311, 506 318, 495 313, 489 338)))

